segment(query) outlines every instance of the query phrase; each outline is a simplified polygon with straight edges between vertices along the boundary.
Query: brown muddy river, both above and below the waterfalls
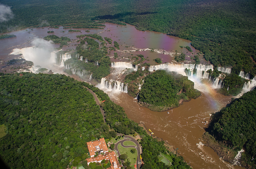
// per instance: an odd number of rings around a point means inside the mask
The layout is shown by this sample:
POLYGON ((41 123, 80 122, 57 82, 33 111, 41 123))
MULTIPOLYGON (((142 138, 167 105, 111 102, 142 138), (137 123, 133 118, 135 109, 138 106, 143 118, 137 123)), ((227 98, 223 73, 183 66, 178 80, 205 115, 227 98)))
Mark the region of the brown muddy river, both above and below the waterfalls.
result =
MULTIPOLYGON (((134 54, 142 54, 149 59, 146 62, 155 64, 153 59, 160 57, 162 62, 172 62, 171 56, 175 51, 184 52, 186 55, 193 55, 186 48, 180 46, 189 46, 190 41, 177 37, 165 35, 163 33, 138 31, 134 26, 120 26, 116 24, 105 23, 104 29, 89 29, 89 33, 98 33, 102 37, 109 37, 117 41, 120 45, 118 55, 129 58, 134 54), (153 50, 154 51, 150 51, 153 50)), ((77 30, 77 29, 76 29, 77 30)), ((71 41, 77 40, 76 35, 88 34, 88 29, 79 29, 80 32, 68 33, 68 29, 60 27, 58 29, 45 27, 19 30, 8 34, 14 34, 17 37, 0 40, 0 66, 1 70, 6 66, 6 61, 17 58, 18 55, 9 55, 14 48, 31 47, 31 41, 35 37, 43 38, 54 31, 57 36, 67 36, 71 41), (65 32, 62 32, 65 31, 65 32)), ((64 46, 63 50, 75 49, 77 42, 72 42, 69 46, 64 46)), ((59 45, 55 45, 58 47, 59 45)), ((195 48, 191 47, 193 53, 197 53, 195 48)), ((109 56, 112 56, 114 51, 109 56)), ((35 56, 36 57, 36 56, 35 56)), ((123 58, 122 61, 127 61, 123 58)), ((201 58, 201 63, 207 63, 201 58)), ((111 58, 112 61, 118 62, 111 58)), ((63 73, 61 69, 53 70, 63 73)), ((202 92, 202 96, 192 99, 189 102, 183 102, 180 107, 167 112, 152 112, 148 108, 140 107, 136 99, 130 97, 127 93, 108 92, 111 100, 124 107, 125 113, 129 118, 136 122, 144 122, 147 129, 154 132, 154 136, 166 140, 173 148, 178 148, 178 153, 184 157, 193 168, 242 168, 233 166, 223 161, 209 147, 203 146, 202 135, 204 133, 204 121, 209 121, 212 113, 219 111, 231 100, 231 97, 216 93, 211 84, 195 83, 195 88, 202 92), (201 142, 201 143, 200 143, 201 142)))

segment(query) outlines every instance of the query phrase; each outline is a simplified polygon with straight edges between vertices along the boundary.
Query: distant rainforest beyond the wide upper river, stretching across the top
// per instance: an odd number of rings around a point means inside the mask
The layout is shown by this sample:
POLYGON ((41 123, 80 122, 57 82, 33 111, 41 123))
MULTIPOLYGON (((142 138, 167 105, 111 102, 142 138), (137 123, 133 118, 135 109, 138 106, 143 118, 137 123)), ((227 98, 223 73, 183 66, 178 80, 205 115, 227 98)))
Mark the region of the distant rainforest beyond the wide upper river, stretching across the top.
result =
POLYGON ((236 74, 240 70, 250 72, 252 77, 256 74, 253 0, 104 0, 100 4, 92 0, 44 3, 3 0, 2 3, 11 6, 14 17, 1 24, 1 32, 28 26, 102 26, 93 20, 126 22, 140 30, 191 40, 192 46, 215 66, 233 66, 236 74))

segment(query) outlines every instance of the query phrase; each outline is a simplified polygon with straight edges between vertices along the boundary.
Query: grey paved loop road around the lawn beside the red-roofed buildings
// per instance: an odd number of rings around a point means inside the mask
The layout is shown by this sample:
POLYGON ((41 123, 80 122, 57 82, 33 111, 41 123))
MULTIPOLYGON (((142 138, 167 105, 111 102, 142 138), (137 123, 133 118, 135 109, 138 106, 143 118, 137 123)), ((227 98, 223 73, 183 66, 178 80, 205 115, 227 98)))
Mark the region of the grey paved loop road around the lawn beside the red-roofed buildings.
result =
MULTIPOLYGON (((116 134, 117 136, 123 136, 123 134, 116 134)), ((120 141, 118 141, 116 144, 115 144, 115 150, 117 151, 117 155, 118 156, 120 156, 121 154, 120 154, 120 152, 118 151, 118 149, 117 149, 117 145, 119 144, 119 143, 121 143, 121 145, 123 146, 123 147, 125 147, 125 148, 129 148, 129 147, 133 147, 133 148, 136 148, 137 149, 137 160, 136 160, 136 165, 137 165, 137 169, 139 169, 140 168, 140 165, 141 165, 141 159, 140 159, 140 154, 141 154, 141 150, 140 150, 140 143, 139 142, 137 142, 137 140, 135 139, 135 138, 133 138, 132 136, 127 136, 127 135, 125 135, 124 136, 124 139, 123 140, 120 140, 120 141), (129 138, 129 139, 127 139, 127 138, 129 138), (134 146, 134 145, 129 145, 129 146, 124 146, 124 142, 125 141, 132 141, 133 143, 135 143, 136 144, 136 146, 134 146), (119 153, 119 154, 118 154, 119 153)), ((124 161, 122 161, 121 160, 121 162, 122 163, 124 163, 124 161)))

